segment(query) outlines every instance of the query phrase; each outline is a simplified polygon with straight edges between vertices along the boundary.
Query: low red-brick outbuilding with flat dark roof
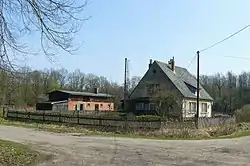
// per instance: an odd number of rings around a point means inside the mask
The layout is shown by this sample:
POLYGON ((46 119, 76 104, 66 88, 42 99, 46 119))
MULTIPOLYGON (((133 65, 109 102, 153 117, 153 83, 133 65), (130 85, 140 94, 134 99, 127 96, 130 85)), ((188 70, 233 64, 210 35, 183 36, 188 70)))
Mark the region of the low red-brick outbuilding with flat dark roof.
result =
POLYGON ((114 111, 114 96, 67 90, 53 90, 48 93, 49 101, 36 104, 36 110, 80 110, 80 111, 114 111))

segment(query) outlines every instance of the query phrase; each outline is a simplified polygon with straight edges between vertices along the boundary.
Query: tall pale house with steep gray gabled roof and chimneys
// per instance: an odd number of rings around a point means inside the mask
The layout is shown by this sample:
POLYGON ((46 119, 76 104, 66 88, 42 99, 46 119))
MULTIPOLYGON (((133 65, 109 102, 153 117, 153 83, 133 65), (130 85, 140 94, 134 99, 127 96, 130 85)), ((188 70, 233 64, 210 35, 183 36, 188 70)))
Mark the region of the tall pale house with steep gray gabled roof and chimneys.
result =
MULTIPOLYGON (((145 75, 128 96, 127 103, 136 114, 156 112, 156 103, 152 98, 155 92, 174 92, 180 97, 183 118, 194 117, 197 101, 197 80, 187 69, 175 66, 174 58, 168 63, 150 60, 145 75)), ((213 98, 199 86, 199 117, 211 117, 213 98)))

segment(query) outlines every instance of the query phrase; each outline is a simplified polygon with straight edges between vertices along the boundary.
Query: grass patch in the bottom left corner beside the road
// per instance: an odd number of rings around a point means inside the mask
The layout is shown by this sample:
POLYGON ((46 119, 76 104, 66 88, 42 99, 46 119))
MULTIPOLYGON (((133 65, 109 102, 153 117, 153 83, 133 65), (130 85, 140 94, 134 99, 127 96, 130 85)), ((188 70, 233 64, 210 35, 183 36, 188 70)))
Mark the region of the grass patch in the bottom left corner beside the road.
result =
POLYGON ((27 146, 0 140, 0 166, 31 166, 38 161, 39 153, 27 146))

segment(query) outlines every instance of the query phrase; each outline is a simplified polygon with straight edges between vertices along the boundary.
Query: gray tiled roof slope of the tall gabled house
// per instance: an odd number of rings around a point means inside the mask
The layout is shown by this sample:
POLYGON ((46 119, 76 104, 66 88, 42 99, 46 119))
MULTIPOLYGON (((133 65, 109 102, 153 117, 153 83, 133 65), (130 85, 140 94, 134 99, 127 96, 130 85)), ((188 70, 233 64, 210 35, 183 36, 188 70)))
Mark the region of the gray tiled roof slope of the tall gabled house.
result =
MULTIPOLYGON (((175 67, 175 73, 169 68, 169 65, 155 61, 163 72, 168 76, 168 78, 173 82, 176 88, 182 93, 184 97, 187 98, 197 98, 194 93, 192 93, 186 84, 189 84, 193 87, 197 87, 196 78, 188 72, 187 69, 182 67, 175 67)), ((213 100, 213 98, 206 92, 206 90, 200 85, 200 99, 204 100, 213 100)))

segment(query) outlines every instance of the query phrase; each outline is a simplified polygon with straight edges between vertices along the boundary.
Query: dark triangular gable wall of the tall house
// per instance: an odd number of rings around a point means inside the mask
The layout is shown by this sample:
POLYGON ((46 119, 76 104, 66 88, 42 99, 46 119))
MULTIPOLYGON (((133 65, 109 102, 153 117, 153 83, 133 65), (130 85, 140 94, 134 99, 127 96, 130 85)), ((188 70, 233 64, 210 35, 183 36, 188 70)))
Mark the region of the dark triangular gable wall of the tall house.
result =
POLYGON ((131 92, 129 98, 152 97, 148 91, 150 85, 159 85, 160 89, 176 91, 178 94, 181 94, 172 81, 166 77, 164 71, 154 62, 131 92))

